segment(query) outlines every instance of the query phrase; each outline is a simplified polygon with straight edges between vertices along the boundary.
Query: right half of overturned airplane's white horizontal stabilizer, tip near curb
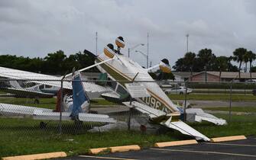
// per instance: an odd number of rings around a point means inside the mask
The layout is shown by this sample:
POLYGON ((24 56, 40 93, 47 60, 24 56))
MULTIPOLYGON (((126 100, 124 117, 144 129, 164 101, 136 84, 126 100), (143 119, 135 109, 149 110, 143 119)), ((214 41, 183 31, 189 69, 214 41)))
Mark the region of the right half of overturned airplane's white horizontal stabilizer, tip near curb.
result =
POLYGON ((193 129, 191 126, 187 125, 186 123, 183 123, 183 121, 171 122, 171 117, 170 117, 169 120, 167 120, 165 123, 162 123, 162 124, 173 130, 178 130, 180 131, 180 133, 183 133, 189 136, 194 136, 196 140, 203 139, 205 141, 210 141, 210 139, 207 136, 204 136, 202 133, 199 133, 197 130, 193 129))

